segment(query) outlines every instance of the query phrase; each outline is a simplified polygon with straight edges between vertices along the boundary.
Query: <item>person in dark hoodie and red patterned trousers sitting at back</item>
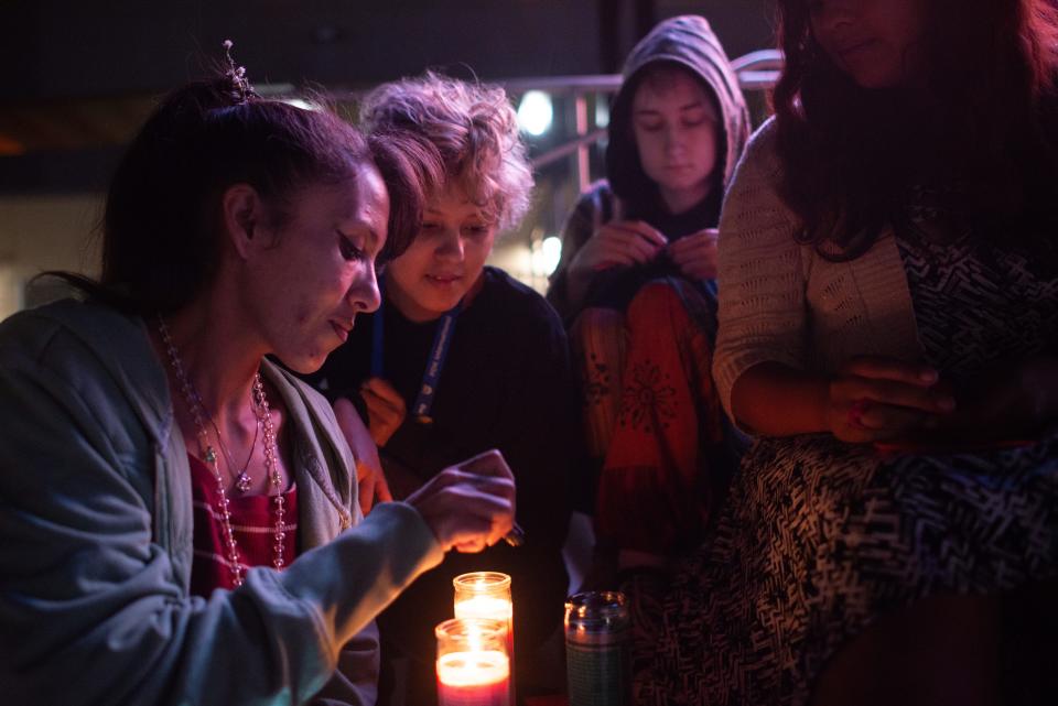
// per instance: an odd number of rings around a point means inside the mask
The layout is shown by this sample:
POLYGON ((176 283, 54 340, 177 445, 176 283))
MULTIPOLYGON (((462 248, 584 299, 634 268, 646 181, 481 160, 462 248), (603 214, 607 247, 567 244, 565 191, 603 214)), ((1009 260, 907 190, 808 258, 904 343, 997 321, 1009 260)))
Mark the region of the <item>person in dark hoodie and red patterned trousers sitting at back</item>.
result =
POLYGON ((607 178, 569 218, 548 300, 571 329, 602 467, 587 500, 597 557, 663 566, 700 536, 734 465, 710 377, 715 228, 749 119, 701 17, 658 24, 624 77, 607 178))

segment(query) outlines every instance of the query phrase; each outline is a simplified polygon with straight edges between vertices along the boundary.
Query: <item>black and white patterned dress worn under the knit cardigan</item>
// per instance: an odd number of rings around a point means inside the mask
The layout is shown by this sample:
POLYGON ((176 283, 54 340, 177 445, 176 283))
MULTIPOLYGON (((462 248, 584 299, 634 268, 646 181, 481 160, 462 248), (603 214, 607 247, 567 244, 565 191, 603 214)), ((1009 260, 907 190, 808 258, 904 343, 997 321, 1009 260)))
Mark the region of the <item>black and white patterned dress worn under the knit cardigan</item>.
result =
MULTIPOLYGON (((927 359, 947 377, 1056 350, 1058 275, 1030 256, 968 238, 899 247, 927 359)), ((876 617, 1056 574, 1058 435, 890 456, 829 434, 759 439, 713 541, 657 602, 636 597, 637 703, 805 704, 876 617)))

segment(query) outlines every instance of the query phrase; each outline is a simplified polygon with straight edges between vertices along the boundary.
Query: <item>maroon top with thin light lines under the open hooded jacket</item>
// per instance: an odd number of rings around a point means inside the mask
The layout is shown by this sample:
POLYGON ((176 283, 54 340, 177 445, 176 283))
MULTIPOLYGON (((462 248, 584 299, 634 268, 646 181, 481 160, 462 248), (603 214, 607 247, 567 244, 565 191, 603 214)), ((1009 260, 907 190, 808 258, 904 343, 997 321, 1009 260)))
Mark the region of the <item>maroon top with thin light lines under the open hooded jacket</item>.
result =
MULTIPOLYGON (((191 593, 208 597, 216 588, 235 588, 224 542, 224 524, 216 508, 220 506, 217 480, 205 463, 187 455, 191 463, 191 495, 194 500, 194 557, 191 564, 191 593)), ((228 495, 231 530, 238 545, 239 563, 271 566, 274 557, 276 506, 273 496, 228 495)), ((283 562, 298 555, 298 488, 283 493, 283 562)))

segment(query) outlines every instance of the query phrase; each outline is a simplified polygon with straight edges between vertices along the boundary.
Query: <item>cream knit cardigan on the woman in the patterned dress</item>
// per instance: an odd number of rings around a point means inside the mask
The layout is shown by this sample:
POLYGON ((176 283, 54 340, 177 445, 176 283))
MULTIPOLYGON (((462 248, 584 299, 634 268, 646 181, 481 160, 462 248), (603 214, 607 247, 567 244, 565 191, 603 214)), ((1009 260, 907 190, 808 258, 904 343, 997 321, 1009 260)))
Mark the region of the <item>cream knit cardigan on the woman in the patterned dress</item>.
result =
POLYGON ((832 374, 854 356, 924 355, 892 228, 848 262, 799 245, 800 219, 779 196, 776 137, 774 118, 753 135, 720 219, 713 377, 731 419, 732 387, 762 362, 832 374))

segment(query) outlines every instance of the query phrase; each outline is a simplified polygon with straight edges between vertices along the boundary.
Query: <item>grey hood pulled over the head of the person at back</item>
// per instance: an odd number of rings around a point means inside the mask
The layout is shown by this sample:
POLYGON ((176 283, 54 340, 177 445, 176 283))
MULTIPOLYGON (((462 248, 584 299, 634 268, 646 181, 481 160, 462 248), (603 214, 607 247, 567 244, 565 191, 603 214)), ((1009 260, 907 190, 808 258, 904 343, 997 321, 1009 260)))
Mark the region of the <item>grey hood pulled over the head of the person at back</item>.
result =
POLYGON ((717 167, 722 189, 749 138, 749 113, 738 78, 705 18, 684 14, 658 23, 631 50, 622 72, 624 82, 611 105, 606 175, 614 193, 629 204, 657 198, 657 186, 643 171, 631 128, 631 101, 644 70, 658 63, 677 64, 698 77, 720 109, 717 167), (726 148, 726 149, 724 149, 726 148))

